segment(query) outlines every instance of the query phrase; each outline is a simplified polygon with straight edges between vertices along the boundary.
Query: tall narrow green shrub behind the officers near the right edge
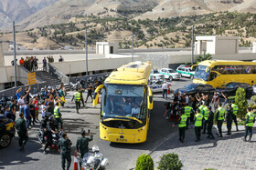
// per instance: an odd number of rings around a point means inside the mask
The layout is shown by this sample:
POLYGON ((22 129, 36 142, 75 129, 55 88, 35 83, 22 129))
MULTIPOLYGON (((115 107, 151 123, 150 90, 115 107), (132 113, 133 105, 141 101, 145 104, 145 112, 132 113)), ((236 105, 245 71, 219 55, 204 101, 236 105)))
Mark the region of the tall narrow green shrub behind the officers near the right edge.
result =
POLYGON ((243 118, 247 114, 248 102, 246 100, 246 92, 243 88, 238 88, 235 96, 235 104, 239 106, 239 117, 243 118))

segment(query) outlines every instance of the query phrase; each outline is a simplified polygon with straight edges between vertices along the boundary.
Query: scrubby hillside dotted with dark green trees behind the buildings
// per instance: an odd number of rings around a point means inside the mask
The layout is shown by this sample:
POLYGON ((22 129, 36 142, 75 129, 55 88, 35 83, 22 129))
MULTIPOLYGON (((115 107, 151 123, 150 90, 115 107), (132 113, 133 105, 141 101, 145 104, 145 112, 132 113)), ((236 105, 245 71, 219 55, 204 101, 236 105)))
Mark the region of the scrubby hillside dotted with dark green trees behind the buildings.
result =
MULTIPOLYGON (((119 42, 119 48, 131 48, 132 32, 136 48, 189 47, 191 25, 195 25, 195 35, 239 36, 240 46, 251 46, 256 40, 256 14, 219 12, 156 20, 77 16, 65 24, 19 32, 16 34, 16 42, 27 49, 59 49, 66 45, 73 49, 83 49, 84 30, 87 28, 90 47, 95 47, 96 42, 109 41, 119 42)), ((1 34, 0 38, 11 42, 12 34, 1 34)))

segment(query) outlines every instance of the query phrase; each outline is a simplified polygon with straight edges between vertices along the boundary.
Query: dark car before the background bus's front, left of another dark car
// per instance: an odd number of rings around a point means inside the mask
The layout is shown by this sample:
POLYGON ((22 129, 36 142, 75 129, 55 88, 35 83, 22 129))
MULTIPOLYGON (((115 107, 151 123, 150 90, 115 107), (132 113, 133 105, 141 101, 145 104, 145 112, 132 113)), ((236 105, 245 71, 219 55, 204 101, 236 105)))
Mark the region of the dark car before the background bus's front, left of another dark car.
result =
POLYGON ((187 95, 196 95, 197 93, 203 93, 205 95, 213 95, 213 93, 216 91, 216 89, 213 88, 213 86, 204 85, 204 84, 189 84, 184 88, 176 89, 175 93, 177 93, 177 90, 180 93, 187 94, 187 95))

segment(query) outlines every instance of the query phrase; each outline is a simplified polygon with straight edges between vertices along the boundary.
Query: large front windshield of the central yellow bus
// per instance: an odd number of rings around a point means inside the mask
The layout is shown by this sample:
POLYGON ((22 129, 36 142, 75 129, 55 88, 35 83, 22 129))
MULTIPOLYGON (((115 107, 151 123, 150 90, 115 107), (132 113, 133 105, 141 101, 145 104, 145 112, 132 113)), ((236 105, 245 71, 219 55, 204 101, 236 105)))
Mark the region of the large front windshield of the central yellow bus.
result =
POLYGON ((116 118, 141 123, 146 119, 143 96, 143 85, 105 85, 101 118, 105 121, 116 118))

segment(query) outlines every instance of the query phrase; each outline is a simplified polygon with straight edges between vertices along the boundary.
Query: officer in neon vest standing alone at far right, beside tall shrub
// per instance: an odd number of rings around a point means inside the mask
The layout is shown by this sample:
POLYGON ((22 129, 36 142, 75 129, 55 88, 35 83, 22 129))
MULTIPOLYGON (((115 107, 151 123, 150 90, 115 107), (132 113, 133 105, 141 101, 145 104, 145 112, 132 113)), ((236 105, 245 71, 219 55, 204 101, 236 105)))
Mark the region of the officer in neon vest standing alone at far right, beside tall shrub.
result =
POLYGON ((243 138, 243 141, 246 142, 247 139, 247 135, 248 133, 250 133, 250 138, 249 138, 249 142, 251 142, 251 137, 252 137, 252 126, 253 126, 253 123, 255 122, 255 116, 254 114, 251 112, 251 107, 248 107, 247 108, 247 118, 246 118, 246 121, 245 121, 245 134, 244 134, 244 138, 243 138))

